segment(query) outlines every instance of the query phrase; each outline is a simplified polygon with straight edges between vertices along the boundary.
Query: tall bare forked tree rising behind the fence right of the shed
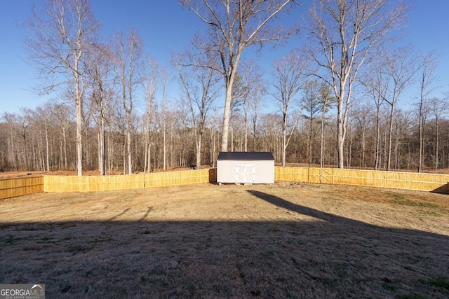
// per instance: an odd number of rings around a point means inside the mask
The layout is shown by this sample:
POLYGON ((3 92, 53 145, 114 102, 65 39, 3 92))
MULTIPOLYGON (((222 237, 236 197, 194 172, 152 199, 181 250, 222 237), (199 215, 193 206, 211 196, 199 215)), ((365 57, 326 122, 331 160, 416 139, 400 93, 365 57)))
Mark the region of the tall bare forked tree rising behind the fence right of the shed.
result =
POLYGON ((338 167, 344 167, 351 92, 358 71, 371 50, 403 23, 406 5, 387 11, 388 0, 319 0, 311 4, 309 17, 309 55, 330 75, 321 77, 337 99, 338 167))

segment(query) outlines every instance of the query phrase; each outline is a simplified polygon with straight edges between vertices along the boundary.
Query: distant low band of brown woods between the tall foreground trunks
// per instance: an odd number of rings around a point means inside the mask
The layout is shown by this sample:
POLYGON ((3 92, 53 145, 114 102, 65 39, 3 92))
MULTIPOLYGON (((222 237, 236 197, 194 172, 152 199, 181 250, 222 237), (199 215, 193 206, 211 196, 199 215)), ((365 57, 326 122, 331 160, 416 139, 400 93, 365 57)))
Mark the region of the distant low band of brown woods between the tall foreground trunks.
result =
MULTIPOLYGON (((114 106, 114 105, 112 105, 114 106)), ((375 167, 376 116, 373 107, 358 106, 349 118, 348 137, 345 142, 345 167, 375 167)), ((239 107, 236 107, 239 109, 239 107)), ((22 109, 20 113, 4 113, 0 122, 0 168, 3 171, 49 171, 76 169, 76 128, 73 107, 50 102, 38 109, 22 109)), ((239 109, 240 110, 240 109, 239 109)), ((260 113, 256 127, 253 120, 246 133, 244 114, 234 111, 233 151, 272 151, 276 162, 282 160, 281 113, 260 113), (247 137, 246 137, 247 135, 247 137), (246 148, 245 148, 246 145, 246 148)), ((126 116, 119 102, 109 111, 105 130, 107 173, 127 172, 126 116)), ((430 109, 424 123, 424 170, 449 167, 449 119, 436 119, 430 109), (438 134, 437 134, 438 132, 438 134)), ((196 166, 195 130, 188 113, 181 107, 154 109, 150 122, 150 155, 147 149, 147 120, 145 113, 133 113, 131 123, 131 151, 133 172, 153 171, 176 167, 196 166), (163 121, 166 120, 164 142, 163 121), (165 163, 164 163, 164 152, 165 163)), ((95 113, 83 123, 83 169, 98 170, 101 165, 100 128, 95 113)), ((220 151, 220 114, 213 113, 203 132, 201 165, 213 167, 220 151)), ((337 166, 336 128, 332 111, 324 126, 325 165, 337 166)), ((416 113, 399 111, 394 122, 393 155, 391 169, 417 171, 419 165, 420 130, 416 113)), ((320 165, 321 120, 304 115, 288 135, 287 163, 320 165)), ((387 169, 389 122, 388 111, 382 111, 380 123, 380 159, 378 169, 387 169)))

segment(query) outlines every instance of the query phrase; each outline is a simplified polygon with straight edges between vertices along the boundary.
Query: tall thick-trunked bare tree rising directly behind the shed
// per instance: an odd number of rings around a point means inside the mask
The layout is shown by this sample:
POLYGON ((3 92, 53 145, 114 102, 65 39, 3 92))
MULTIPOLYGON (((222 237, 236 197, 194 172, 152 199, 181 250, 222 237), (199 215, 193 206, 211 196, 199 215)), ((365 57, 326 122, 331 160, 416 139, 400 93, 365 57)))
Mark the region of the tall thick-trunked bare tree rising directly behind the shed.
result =
POLYGON ((270 27, 281 11, 288 11, 294 0, 180 0, 209 26, 208 36, 196 46, 211 58, 203 67, 215 69, 225 79, 225 109, 222 122, 222 151, 228 151, 229 114, 232 87, 243 50, 286 39, 293 30, 270 27))

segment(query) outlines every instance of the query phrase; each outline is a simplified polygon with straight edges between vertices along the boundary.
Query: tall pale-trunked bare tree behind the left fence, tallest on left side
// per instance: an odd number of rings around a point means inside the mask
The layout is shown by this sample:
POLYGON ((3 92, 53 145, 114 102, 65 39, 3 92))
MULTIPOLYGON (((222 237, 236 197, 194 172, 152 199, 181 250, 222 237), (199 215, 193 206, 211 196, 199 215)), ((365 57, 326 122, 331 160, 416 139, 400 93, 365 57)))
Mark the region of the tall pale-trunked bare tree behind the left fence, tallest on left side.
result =
POLYGON ((48 0, 26 23, 31 34, 26 37, 29 60, 36 65, 41 93, 68 88, 76 106, 76 168, 83 174, 82 164, 82 106, 83 60, 100 26, 91 12, 88 0, 48 0))

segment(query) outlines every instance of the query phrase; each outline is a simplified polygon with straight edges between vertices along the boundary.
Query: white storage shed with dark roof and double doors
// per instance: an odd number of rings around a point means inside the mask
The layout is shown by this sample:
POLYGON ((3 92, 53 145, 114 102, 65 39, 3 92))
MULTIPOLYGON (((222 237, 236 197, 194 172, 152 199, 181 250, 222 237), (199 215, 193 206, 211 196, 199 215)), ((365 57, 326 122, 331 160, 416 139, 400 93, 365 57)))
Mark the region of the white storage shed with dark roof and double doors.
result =
POLYGON ((220 152, 218 183, 274 183, 274 157, 270 152, 220 152))

